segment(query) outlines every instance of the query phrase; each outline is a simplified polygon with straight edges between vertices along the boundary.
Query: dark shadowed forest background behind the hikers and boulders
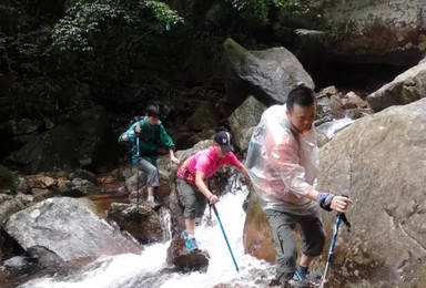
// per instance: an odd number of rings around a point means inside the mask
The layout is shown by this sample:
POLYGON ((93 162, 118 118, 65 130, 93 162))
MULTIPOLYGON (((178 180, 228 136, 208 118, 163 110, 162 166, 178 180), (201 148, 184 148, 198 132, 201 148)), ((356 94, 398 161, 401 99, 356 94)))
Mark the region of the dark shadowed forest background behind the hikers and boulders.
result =
MULTIPOLYGON (((179 130, 200 132, 183 128, 199 101, 221 105, 219 117, 225 119, 231 113, 224 79, 226 38, 247 50, 285 47, 313 76, 316 90, 333 84, 363 96, 418 61, 418 52, 357 56, 338 54, 331 43, 303 40, 296 29, 327 29, 324 6, 268 0, 3 0, 1 160, 23 169, 24 164, 8 156, 31 133, 17 136, 4 124, 10 120, 34 120, 33 130, 40 132, 67 122, 72 112, 101 105, 112 123, 103 143, 108 153, 83 164, 99 171, 106 169, 102 163, 111 166, 118 160, 114 140, 121 131, 114 128, 122 130, 120 123, 142 114, 149 103, 161 104, 172 135, 179 130)), ((178 148, 193 144, 174 140, 178 148)))

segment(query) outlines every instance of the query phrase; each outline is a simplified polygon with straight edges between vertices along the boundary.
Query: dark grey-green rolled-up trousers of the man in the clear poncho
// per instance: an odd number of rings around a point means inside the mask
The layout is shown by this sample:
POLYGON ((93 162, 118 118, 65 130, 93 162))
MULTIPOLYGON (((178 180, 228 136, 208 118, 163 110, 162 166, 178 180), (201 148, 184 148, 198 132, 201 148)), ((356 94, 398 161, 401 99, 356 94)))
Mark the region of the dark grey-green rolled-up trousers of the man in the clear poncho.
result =
POLYGON ((276 274, 280 280, 290 280, 296 270, 297 247, 294 228, 302 238, 302 251, 306 256, 318 256, 323 251, 325 234, 318 213, 293 215, 273 209, 265 210, 274 236, 276 274))

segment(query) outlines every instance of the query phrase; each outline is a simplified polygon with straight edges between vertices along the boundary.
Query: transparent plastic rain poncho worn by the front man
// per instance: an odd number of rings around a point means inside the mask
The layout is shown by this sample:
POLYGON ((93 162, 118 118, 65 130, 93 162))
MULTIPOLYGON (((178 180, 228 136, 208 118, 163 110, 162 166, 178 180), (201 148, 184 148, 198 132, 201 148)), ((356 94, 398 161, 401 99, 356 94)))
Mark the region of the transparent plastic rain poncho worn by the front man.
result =
POLYGON ((317 203, 304 197, 315 186, 317 140, 314 127, 298 133, 286 116, 285 105, 267 109, 255 127, 245 167, 260 193, 264 209, 310 215, 317 203))

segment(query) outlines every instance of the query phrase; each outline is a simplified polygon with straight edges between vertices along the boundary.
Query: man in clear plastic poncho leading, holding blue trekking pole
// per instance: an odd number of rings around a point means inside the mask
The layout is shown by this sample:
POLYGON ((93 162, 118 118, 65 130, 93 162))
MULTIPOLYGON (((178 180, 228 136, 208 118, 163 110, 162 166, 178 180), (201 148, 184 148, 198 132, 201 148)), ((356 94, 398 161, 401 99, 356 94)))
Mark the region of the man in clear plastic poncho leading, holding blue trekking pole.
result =
POLYGON ((273 105, 263 113, 248 145, 245 168, 273 233, 281 287, 291 279, 300 281, 302 286, 297 287, 308 287, 308 266, 325 243, 318 204, 325 210, 345 213, 352 203, 315 188, 315 92, 298 85, 290 92, 285 105, 273 105), (295 227, 302 238, 298 264, 295 227))

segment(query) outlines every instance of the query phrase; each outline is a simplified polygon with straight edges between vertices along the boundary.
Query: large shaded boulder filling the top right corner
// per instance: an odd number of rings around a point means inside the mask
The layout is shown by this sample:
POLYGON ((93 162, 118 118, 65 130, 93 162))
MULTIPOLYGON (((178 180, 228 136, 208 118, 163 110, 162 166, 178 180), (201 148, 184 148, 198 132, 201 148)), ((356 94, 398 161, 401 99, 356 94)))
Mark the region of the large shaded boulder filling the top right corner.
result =
POLYGON ((334 53, 353 54, 359 61, 407 65, 426 49, 424 1, 335 0, 325 6, 327 31, 334 38, 334 53))

